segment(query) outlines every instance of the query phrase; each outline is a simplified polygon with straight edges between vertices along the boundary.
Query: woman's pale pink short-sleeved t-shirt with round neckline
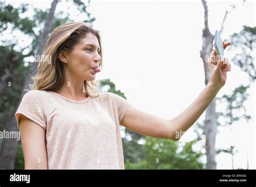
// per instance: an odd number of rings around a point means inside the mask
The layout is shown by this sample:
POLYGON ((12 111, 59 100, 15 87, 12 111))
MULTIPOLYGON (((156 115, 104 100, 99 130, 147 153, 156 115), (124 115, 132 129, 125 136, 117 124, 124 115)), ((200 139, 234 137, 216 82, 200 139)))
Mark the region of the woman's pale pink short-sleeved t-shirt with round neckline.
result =
POLYGON ((48 169, 124 169, 120 124, 129 103, 102 92, 76 101, 51 91, 25 93, 23 114, 46 130, 48 169))

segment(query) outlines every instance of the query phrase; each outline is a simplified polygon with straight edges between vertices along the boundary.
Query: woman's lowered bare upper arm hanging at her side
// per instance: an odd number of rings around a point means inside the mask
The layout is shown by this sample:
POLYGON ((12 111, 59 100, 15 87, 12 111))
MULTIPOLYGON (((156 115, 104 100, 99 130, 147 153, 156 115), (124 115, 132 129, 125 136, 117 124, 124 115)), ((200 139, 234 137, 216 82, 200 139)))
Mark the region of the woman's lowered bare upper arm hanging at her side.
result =
POLYGON ((48 169, 45 130, 21 114, 19 118, 25 169, 48 169))

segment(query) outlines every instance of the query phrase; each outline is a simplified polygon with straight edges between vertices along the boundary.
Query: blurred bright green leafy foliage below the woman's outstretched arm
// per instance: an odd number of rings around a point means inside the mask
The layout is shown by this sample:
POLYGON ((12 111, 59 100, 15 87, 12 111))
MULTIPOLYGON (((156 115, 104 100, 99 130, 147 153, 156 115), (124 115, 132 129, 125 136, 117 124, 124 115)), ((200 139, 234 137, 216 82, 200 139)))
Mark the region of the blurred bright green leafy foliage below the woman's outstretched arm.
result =
POLYGON ((186 142, 174 142, 167 139, 146 137, 143 146, 144 158, 137 163, 129 160, 125 163, 126 169, 204 169, 201 161, 203 153, 194 152, 192 146, 197 140, 186 142), (180 145, 180 146, 179 146, 180 145), (179 150, 179 148, 181 148, 179 150))

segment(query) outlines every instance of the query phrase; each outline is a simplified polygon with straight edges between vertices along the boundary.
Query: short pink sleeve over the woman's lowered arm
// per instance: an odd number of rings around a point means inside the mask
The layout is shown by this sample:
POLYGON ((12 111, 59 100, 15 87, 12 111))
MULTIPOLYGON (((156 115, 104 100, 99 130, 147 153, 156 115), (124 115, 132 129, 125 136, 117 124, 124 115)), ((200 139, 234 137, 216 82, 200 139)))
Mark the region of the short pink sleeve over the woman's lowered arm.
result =
POLYGON ((23 96, 15 113, 18 129, 21 114, 46 129, 42 98, 38 90, 31 90, 23 96))

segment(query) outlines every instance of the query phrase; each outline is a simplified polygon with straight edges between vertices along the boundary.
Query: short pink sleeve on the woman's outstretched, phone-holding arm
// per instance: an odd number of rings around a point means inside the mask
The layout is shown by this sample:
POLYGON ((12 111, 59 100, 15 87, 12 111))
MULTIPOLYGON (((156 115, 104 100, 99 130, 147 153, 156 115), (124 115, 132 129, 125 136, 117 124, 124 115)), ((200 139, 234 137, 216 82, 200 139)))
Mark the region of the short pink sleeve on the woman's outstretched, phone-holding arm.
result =
POLYGON ((119 116, 119 123, 122 124, 122 121, 124 119, 124 115, 126 110, 128 109, 128 106, 130 105, 127 100, 125 100, 123 97, 109 92, 112 99, 114 100, 114 103, 117 105, 117 110, 118 110, 118 116, 119 116))

